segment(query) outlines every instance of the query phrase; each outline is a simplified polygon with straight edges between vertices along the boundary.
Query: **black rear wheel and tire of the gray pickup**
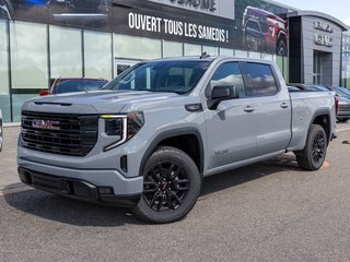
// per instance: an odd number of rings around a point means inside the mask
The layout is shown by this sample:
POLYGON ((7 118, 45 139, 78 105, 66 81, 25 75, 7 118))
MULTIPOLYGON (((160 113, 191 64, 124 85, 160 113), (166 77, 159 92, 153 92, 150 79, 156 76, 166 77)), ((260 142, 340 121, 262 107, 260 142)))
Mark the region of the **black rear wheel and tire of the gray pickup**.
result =
POLYGON ((312 124, 304 150, 295 152, 299 166, 306 170, 318 170, 326 159, 327 145, 325 130, 318 124, 312 124))

